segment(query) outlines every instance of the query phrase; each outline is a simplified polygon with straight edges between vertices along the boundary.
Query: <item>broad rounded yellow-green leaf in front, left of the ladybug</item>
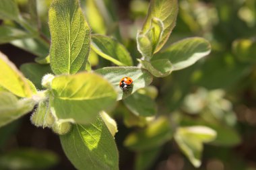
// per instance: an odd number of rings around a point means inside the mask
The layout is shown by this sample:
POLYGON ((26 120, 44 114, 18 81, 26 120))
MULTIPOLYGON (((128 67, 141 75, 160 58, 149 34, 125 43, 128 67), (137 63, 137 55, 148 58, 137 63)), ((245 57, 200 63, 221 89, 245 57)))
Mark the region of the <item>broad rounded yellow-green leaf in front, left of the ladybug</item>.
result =
POLYGON ((115 104, 117 93, 106 79, 94 73, 60 75, 52 81, 51 111, 58 119, 90 123, 101 110, 115 104))

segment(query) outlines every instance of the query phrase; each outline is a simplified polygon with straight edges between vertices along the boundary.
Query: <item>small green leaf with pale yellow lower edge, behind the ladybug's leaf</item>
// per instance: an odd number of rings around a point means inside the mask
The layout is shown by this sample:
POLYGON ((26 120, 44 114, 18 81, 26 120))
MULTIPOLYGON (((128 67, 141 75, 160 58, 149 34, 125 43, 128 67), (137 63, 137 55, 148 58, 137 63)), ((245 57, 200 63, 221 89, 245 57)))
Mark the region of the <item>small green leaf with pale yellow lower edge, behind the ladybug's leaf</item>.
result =
POLYGON ((125 46, 114 38, 100 34, 92 35, 92 49, 106 60, 119 66, 132 66, 133 60, 125 46))

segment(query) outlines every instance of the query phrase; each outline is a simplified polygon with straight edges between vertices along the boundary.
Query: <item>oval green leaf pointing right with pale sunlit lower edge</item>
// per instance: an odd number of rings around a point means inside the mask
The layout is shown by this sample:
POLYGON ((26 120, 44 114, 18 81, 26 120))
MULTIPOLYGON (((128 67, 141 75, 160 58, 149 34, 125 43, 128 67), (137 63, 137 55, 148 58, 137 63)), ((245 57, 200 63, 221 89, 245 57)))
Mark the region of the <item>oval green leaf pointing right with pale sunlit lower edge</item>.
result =
POLYGON ((204 38, 186 38, 172 44, 164 52, 160 52, 153 60, 168 59, 173 70, 180 70, 193 65, 197 60, 211 51, 210 43, 204 38))

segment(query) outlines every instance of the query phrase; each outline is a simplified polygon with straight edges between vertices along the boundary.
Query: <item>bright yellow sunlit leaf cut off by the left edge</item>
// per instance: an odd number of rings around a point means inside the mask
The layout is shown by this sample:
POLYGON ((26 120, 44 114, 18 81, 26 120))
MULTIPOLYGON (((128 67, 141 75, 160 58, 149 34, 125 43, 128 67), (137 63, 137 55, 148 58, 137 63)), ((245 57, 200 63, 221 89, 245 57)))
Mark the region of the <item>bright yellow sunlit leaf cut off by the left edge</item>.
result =
POLYGON ((25 77, 11 61, 0 52, 0 86, 20 97, 30 97, 32 91, 25 77))

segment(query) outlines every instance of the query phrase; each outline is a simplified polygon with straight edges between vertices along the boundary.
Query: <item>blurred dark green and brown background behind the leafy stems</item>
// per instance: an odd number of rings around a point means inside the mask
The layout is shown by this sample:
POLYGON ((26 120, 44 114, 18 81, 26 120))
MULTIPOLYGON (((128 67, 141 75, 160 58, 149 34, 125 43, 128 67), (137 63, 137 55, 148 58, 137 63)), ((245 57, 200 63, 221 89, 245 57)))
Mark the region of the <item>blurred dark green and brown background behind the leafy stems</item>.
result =
MULTIPOLYGON (((28 15, 28 1, 18 0, 24 17, 28 15)), ((51 1, 37 3, 40 29, 50 40, 47 12, 51 1)), ((92 32, 115 36, 128 48, 136 65, 135 58, 140 54, 135 38, 146 18, 149 1, 81 0, 81 5, 92 32), (99 11, 107 17, 104 21, 99 11)), ((15 25, 11 21, 1 24, 15 25)), ((179 0, 177 26, 166 46, 192 36, 209 40, 212 52, 187 69, 154 78, 158 114, 170 117, 178 126, 199 124, 216 130, 216 140, 204 145, 199 169, 256 170, 256 1, 179 0)), ((16 40, 1 43, 0 50, 17 67, 40 56, 38 48, 29 50, 16 40)), ((39 51, 42 55, 48 53, 47 48, 39 51)), ((111 66, 96 54, 90 62, 93 69, 111 66)), ((162 144, 146 163, 144 160, 139 164, 139 154, 123 146, 123 142, 127 134, 143 126, 143 120, 129 120, 127 114, 131 113, 123 103, 111 114, 119 127, 115 140, 120 169, 195 169, 174 140, 162 144)), ((33 126, 28 114, 0 128, 0 169, 75 168, 65 157, 57 134, 33 126)))

